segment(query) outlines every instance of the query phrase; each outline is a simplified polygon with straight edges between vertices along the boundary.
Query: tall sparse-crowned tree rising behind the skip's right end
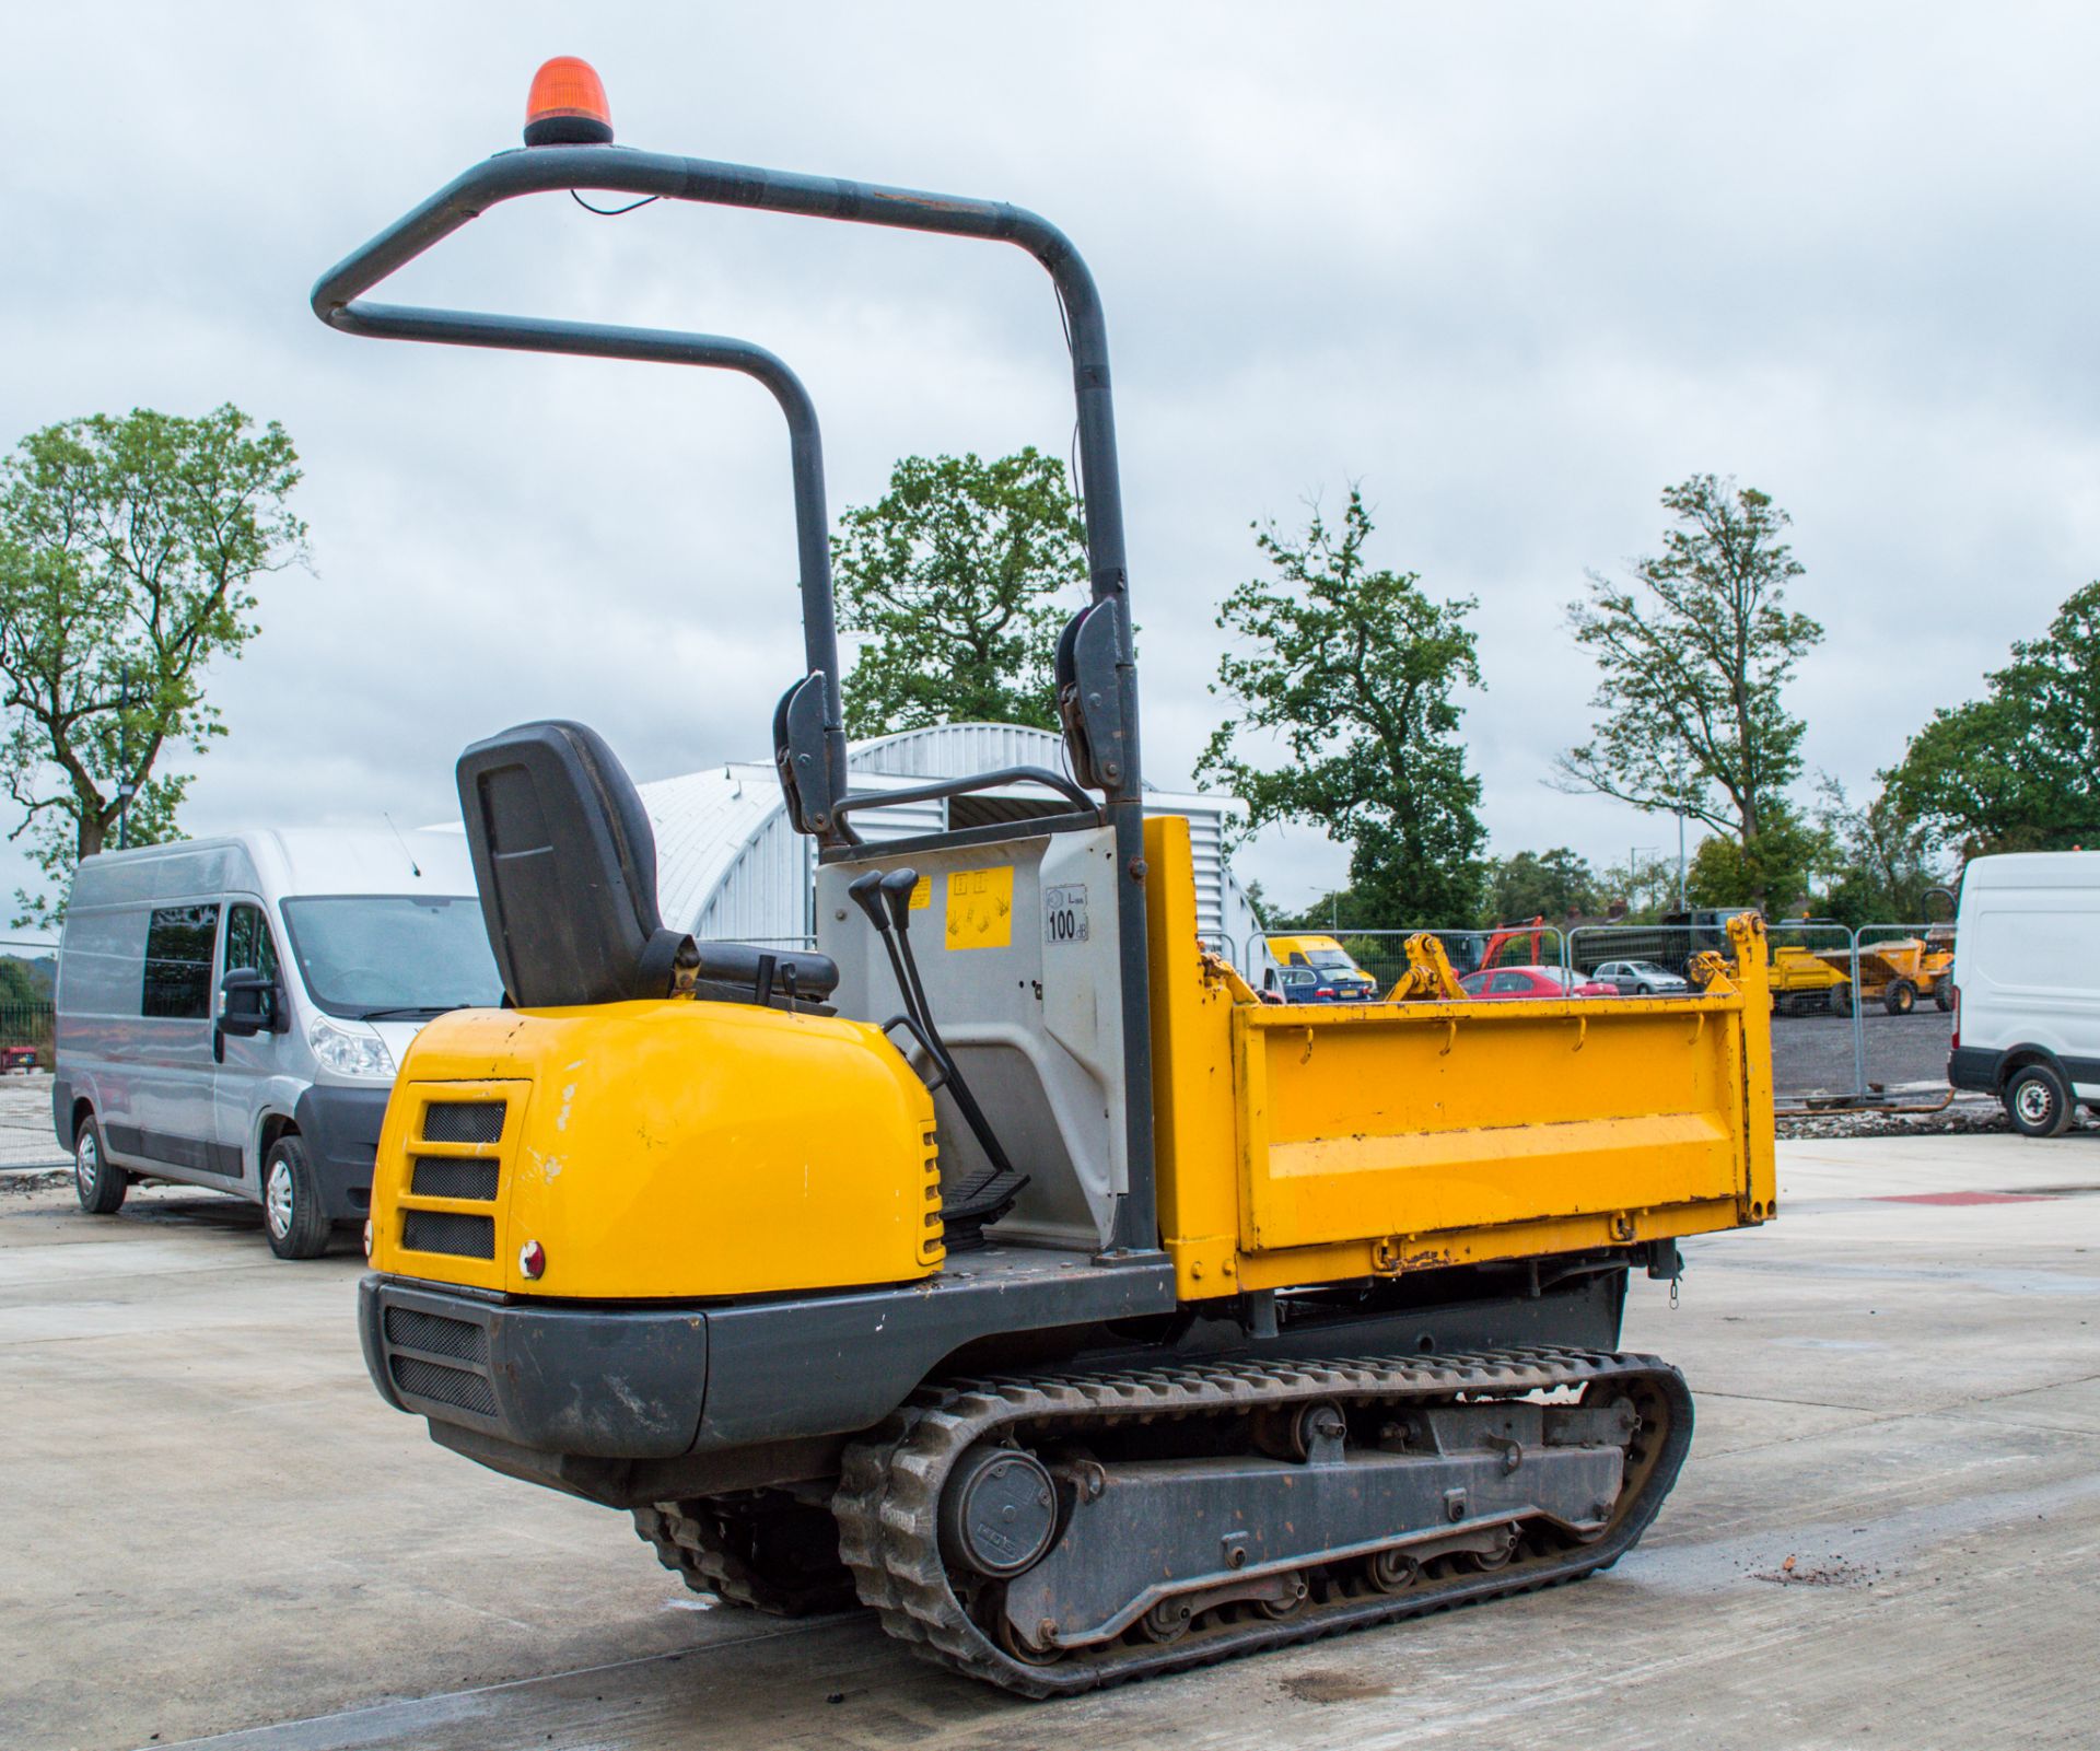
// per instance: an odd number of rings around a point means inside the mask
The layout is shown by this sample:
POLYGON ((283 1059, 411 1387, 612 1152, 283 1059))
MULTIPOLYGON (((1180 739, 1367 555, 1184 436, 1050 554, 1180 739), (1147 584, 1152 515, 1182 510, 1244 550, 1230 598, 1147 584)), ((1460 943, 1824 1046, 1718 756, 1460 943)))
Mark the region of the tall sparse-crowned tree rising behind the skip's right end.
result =
POLYGON ((1743 871, 1774 869, 1758 836, 1785 817, 1802 771, 1800 718, 1783 691, 1823 628, 1785 607, 1802 565, 1789 516, 1754 487, 1693 474, 1663 491, 1676 527, 1634 563, 1632 586, 1590 573, 1569 607, 1596 659, 1596 733, 1558 760, 1556 783, 1655 813, 1682 813, 1735 838, 1743 871))

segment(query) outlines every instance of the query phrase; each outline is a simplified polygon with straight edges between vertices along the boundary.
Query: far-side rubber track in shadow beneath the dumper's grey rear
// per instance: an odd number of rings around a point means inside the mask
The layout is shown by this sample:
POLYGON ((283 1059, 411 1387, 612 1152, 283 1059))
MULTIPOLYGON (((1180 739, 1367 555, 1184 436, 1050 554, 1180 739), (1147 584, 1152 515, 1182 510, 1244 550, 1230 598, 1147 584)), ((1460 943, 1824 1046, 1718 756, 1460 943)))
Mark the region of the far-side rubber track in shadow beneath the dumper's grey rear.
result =
POLYGON ((779 1491, 634 1510, 634 1531, 695 1594, 769 1617, 853 1610, 853 1577, 834 1554, 832 1516, 779 1491))

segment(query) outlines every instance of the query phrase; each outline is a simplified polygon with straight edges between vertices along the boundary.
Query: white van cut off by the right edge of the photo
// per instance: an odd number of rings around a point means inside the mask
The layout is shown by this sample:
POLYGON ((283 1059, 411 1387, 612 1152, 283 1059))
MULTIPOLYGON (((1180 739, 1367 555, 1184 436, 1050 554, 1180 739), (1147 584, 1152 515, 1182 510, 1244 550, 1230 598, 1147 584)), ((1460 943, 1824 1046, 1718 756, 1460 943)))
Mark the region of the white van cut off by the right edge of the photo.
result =
POLYGON ((1947 1081, 1997 1094, 2033 1138, 2062 1132, 2077 1102, 2100 1109, 2100 852, 1961 871, 1947 1081))

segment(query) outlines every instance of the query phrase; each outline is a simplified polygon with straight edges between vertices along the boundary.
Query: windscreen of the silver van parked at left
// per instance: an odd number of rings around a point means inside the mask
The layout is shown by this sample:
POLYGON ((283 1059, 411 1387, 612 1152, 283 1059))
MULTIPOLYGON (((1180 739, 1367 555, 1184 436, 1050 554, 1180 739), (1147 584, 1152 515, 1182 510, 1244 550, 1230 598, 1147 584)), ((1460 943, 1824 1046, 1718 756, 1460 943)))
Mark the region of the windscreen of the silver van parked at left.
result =
POLYGON ((309 894, 284 901, 292 957, 332 1016, 494 1010, 504 983, 481 901, 430 894, 309 894))

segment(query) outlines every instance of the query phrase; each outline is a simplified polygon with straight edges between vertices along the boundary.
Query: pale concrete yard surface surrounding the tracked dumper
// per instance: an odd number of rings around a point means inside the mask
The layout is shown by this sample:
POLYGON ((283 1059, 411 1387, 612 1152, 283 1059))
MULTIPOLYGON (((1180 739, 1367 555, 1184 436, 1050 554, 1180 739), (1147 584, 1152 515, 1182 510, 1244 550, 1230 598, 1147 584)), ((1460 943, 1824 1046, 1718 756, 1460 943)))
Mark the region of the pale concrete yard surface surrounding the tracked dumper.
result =
POLYGON ((0 1174, 0 1745, 2090 1745, 2096 1151, 1783 1146, 1777 1224, 1690 1247, 1676 1312, 1636 1283, 1701 1423, 1615 1570, 1052 1705, 706 1610, 626 1520, 439 1451, 365 1384, 355 1249, 0 1174))

